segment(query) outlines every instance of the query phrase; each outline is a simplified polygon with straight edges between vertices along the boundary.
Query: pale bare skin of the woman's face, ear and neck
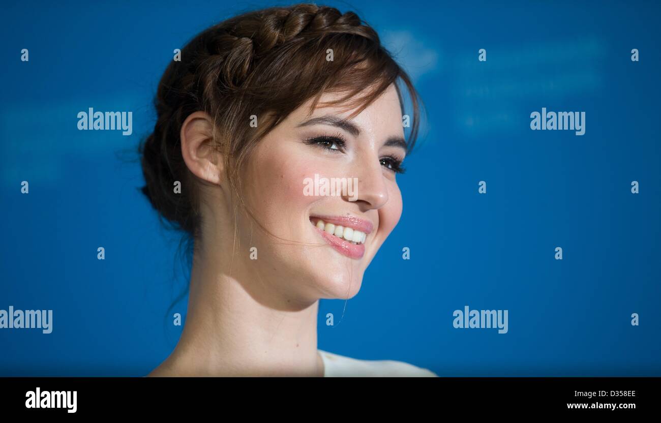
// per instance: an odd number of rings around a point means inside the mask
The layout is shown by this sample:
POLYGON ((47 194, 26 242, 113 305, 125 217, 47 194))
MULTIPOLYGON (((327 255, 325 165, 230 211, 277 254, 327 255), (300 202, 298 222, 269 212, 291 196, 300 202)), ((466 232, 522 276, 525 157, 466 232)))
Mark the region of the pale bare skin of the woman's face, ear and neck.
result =
POLYGON ((201 185, 202 236, 196 241, 184 330, 172 354, 149 376, 324 375, 317 352, 319 299, 358 293, 364 271, 402 213, 396 173, 384 159, 402 160, 406 153, 402 145, 387 143, 404 137, 395 87, 350 120, 358 135, 329 123, 300 126, 319 116, 346 119, 354 111, 344 109, 318 107, 308 114, 309 104, 303 104, 260 141, 242 175, 250 183, 241 194, 254 217, 273 235, 294 242, 268 235, 246 213, 235 218, 237 199, 213 146, 212 120, 204 112, 188 116, 182 155, 201 185), (332 141, 305 143, 336 134, 346 141, 343 149, 332 141), (357 200, 305 196, 303 180, 315 173, 358 178, 357 200), (364 256, 349 258, 332 249, 311 223, 313 215, 371 222, 364 256))

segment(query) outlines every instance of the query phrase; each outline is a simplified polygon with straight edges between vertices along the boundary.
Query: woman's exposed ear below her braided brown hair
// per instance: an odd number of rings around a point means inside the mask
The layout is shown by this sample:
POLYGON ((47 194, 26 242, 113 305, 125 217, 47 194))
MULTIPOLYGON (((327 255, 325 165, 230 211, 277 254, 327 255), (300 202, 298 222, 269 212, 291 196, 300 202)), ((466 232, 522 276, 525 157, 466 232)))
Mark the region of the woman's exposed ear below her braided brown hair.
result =
POLYGON ((214 122, 205 112, 194 112, 181 126, 181 154, 190 171, 212 184, 220 183, 223 158, 214 147, 214 122))

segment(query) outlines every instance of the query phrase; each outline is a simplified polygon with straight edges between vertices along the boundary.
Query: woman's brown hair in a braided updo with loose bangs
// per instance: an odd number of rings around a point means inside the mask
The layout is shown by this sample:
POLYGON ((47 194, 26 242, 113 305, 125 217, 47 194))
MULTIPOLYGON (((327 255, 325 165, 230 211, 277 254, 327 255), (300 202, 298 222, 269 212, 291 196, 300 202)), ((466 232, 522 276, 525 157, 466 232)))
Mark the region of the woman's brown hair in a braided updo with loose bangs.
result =
POLYGON ((300 4, 224 20, 182 48, 180 61, 172 61, 161 78, 157 122, 139 147, 146 182, 142 192, 165 219, 198 235, 198 190, 180 145, 181 127, 190 114, 202 110, 214 118, 214 144, 231 187, 239 192, 239 170, 254 145, 307 100, 313 98, 314 107, 323 93, 346 92, 335 103, 360 106, 355 116, 398 79, 407 86, 414 110, 410 149, 418 132, 417 94, 358 15, 300 4), (367 87, 373 89, 358 96, 367 87), (253 115, 259 128, 250 126, 253 115), (173 189, 176 181, 180 193, 173 189))

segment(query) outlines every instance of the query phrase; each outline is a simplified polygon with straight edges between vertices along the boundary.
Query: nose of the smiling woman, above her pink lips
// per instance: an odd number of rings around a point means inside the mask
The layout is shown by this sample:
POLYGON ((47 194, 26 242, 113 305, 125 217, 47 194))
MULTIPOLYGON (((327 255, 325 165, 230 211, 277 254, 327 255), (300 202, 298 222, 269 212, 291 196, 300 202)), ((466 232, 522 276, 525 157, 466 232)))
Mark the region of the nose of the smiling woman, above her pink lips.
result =
POLYGON ((353 169, 354 181, 357 180, 355 192, 345 199, 358 204, 362 212, 383 207, 388 202, 388 186, 379 157, 364 152, 354 161, 353 169))

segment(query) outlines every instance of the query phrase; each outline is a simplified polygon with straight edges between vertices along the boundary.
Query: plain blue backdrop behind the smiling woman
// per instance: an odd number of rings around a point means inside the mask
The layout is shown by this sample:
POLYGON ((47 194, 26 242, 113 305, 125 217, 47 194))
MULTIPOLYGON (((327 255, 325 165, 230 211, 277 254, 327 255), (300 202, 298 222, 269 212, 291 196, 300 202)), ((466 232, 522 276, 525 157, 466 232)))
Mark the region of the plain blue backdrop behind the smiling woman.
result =
MULTIPOLYGON (((145 375, 188 276, 137 189, 151 100, 175 48, 276 3, 63 3, 0 17, 0 309, 54 313, 50 334, 0 329, 0 375, 145 375), (132 110, 133 134, 79 131, 89 107, 132 110)), ((495 3, 325 3, 376 28, 428 118, 402 219, 360 293, 321 301, 319 348, 439 375, 661 375, 661 7, 495 3), (585 134, 531 130, 542 107, 586 112, 585 134), (508 310, 508 332, 454 328, 465 305, 508 310)))

